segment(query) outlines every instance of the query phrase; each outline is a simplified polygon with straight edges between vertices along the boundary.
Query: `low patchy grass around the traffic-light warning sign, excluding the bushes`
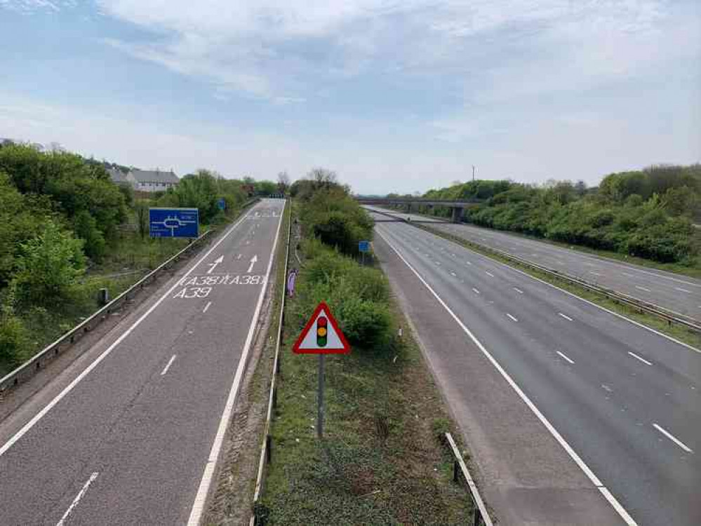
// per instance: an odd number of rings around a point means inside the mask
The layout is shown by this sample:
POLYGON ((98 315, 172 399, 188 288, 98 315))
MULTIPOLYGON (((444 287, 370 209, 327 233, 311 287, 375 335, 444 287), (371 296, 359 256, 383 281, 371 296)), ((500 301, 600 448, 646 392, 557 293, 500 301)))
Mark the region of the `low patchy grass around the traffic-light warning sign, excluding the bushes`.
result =
MULTIPOLYGON (((309 279, 302 271, 300 290, 309 279)), ((438 438, 458 433, 394 299, 392 332, 403 328, 403 337, 381 352, 354 344, 349 355, 326 357, 325 438, 316 439, 318 358, 291 351, 308 299, 300 293, 286 305, 265 523, 465 524, 470 497, 452 482, 452 457, 438 438)))

